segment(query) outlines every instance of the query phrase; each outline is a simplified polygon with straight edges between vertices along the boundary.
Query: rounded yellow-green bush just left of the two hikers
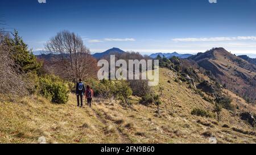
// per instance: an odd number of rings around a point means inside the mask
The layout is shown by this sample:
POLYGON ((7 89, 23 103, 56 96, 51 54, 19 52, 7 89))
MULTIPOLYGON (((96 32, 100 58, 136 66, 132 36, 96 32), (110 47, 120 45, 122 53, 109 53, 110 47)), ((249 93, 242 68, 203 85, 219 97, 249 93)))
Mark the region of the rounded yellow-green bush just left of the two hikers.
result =
POLYGON ((59 77, 45 75, 39 78, 39 94, 52 100, 52 102, 67 103, 68 93, 68 86, 59 77))

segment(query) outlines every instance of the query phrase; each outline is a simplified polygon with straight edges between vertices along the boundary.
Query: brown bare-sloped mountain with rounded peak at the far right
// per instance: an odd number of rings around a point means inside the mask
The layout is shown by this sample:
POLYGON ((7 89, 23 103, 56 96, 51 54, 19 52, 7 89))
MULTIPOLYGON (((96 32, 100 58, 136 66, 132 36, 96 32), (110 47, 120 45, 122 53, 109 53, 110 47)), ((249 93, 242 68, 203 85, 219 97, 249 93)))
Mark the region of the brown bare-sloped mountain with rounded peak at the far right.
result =
POLYGON ((247 99, 247 102, 255 103, 256 66, 254 64, 232 55, 224 48, 198 53, 191 59, 204 69, 210 70, 227 89, 247 99))

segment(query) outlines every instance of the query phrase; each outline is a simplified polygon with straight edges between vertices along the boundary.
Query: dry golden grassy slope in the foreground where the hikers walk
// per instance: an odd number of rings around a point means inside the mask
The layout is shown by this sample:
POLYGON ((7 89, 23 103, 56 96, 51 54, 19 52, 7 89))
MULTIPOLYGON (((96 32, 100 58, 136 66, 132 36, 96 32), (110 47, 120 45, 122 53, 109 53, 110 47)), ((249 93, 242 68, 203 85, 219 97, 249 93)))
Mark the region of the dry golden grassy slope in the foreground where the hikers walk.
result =
POLYGON ((47 143, 212 143, 213 137, 217 143, 256 143, 255 130, 227 110, 221 122, 191 115, 193 108, 212 111, 213 104, 175 78, 160 69, 160 116, 137 97, 133 108, 104 99, 94 99, 92 109, 79 108, 73 94, 67 104, 38 96, 0 102, 0 143, 38 143, 41 136, 47 143))

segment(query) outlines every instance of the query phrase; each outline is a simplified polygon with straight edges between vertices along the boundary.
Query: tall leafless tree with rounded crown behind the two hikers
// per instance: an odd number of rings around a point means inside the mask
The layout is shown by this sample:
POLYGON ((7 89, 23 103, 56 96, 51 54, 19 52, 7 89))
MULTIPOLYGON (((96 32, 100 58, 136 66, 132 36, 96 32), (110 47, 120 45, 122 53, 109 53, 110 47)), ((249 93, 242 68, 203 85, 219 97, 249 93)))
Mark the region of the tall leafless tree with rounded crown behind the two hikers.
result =
POLYGON ((90 55, 81 37, 74 32, 58 32, 45 47, 55 55, 52 64, 59 76, 73 82, 79 78, 96 76, 97 61, 90 55))

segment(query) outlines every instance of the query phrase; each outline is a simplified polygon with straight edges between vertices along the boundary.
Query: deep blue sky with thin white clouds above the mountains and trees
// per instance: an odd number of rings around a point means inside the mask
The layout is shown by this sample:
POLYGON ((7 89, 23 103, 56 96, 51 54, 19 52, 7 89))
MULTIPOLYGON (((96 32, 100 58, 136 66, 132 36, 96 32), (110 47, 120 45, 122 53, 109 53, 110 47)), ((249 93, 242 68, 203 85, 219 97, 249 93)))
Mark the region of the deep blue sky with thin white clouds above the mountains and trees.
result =
POLYGON ((143 54, 224 47, 256 54, 256 0, 1 0, 0 15, 33 51, 69 30, 92 53, 112 47, 143 54))

